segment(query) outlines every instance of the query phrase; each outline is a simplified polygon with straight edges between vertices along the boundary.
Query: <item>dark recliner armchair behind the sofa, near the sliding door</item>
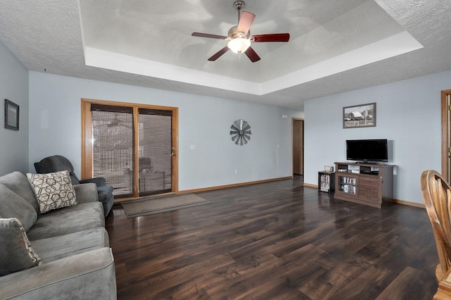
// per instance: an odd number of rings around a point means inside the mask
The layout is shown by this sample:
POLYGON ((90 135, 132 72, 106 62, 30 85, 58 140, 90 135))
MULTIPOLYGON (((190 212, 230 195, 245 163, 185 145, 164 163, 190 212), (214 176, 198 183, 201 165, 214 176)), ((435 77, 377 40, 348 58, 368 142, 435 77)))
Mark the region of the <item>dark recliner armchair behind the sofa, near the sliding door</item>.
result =
POLYGON ((80 183, 95 183, 97 185, 97 193, 99 201, 104 206, 104 215, 108 215, 111 211, 111 207, 114 204, 113 187, 106 185, 104 177, 90 178, 87 180, 78 180, 77 175, 73 172, 73 165, 70 161, 61 155, 54 155, 43 158, 42 161, 35 163, 36 173, 45 174, 53 173, 63 170, 68 170, 70 173, 70 179, 73 185, 79 185, 80 183))

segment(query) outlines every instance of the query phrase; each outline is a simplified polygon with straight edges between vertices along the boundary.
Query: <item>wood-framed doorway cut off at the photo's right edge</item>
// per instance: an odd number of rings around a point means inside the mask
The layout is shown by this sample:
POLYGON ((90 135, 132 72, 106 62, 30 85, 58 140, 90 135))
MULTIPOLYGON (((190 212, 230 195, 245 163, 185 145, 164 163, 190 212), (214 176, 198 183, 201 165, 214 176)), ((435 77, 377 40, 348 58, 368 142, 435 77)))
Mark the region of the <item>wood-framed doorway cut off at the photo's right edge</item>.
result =
POLYGON ((441 92, 442 175, 451 182, 451 89, 441 92))

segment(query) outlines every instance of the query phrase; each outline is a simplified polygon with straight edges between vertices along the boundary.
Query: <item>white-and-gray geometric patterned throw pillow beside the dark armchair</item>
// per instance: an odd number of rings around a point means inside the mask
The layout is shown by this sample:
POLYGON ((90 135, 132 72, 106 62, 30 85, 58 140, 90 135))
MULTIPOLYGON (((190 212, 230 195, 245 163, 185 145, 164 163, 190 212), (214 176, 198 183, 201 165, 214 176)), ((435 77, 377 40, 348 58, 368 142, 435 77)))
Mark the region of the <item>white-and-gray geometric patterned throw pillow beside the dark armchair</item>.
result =
POLYGON ((41 213, 77 204, 75 189, 68 171, 47 174, 27 173, 27 178, 35 192, 41 213))

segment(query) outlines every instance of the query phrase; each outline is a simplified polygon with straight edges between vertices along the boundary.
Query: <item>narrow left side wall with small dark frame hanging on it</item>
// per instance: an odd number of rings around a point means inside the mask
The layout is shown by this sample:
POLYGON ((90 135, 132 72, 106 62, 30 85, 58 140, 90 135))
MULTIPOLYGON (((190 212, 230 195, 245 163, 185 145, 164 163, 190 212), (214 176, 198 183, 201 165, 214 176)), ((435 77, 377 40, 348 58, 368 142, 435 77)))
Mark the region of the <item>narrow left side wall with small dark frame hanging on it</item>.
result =
POLYGON ((28 170, 28 71, 0 42, 0 175, 28 170), (4 99, 19 105, 19 131, 4 127, 4 99))

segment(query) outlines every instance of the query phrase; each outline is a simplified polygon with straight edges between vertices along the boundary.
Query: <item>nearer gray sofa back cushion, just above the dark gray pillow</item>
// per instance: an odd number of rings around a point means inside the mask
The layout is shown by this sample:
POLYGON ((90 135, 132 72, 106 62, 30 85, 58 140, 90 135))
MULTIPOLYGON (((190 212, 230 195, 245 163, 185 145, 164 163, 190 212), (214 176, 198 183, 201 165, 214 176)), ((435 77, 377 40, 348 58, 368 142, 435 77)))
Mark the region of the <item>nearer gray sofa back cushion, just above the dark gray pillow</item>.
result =
POLYGON ((0 218, 18 218, 26 231, 35 224, 35 208, 15 192, 0 183, 0 218))

